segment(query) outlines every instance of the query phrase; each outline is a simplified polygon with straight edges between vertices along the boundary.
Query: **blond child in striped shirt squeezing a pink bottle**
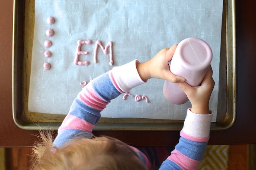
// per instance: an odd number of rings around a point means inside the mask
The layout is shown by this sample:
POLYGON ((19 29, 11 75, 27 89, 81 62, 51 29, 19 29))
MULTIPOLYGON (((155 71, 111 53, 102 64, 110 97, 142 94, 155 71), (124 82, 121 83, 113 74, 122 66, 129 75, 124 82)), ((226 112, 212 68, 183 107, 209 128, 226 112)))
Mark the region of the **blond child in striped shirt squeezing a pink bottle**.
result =
POLYGON ((153 169, 148 153, 110 137, 93 137, 92 129, 101 118, 101 111, 122 93, 146 83, 149 78, 160 78, 178 83, 188 96, 192 107, 187 110, 181 138, 171 155, 162 162, 161 170, 197 169, 209 140, 212 111, 209 99, 214 87, 212 68, 201 86, 191 87, 184 78, 169 70, 177 45, 161 50, 148 62, 137 60, 114 67, 95 78, 78 94, 69 114, 52 142, 50 134, 44 143, 34 148, 37 162, 34 169, 45 170, 142 170, 153 169))

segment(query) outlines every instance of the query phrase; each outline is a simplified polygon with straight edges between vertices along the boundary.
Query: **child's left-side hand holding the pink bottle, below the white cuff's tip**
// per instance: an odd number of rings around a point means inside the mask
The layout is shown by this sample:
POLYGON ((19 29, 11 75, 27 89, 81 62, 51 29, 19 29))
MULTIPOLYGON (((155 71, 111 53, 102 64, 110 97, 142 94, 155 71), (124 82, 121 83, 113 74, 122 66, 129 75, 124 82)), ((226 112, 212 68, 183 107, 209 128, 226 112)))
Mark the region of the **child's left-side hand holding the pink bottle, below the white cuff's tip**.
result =
POLYGON ((172 60, 176 48, 177 44, 173 45, 171 48, 161 50, 147 62, 138 63, 136 67, 142 80, 146 81, 149 78, 159 78, 173 83, 185 81, 184 78, 172 74, 168 64, 168 62, 172 60))

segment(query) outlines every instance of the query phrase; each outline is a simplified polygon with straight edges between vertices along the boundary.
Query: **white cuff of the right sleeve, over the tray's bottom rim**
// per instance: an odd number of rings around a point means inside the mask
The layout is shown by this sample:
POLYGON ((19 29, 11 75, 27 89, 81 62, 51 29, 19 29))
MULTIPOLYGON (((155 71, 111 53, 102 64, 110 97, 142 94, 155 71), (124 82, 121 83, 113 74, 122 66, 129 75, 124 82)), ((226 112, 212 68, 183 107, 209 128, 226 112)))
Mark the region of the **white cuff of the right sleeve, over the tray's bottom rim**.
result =
POLYGON ((198 138, 209 137, 212 116, 212 111, 210 111, 210 114, 195 114, 187 109, 183 132, 198 138))

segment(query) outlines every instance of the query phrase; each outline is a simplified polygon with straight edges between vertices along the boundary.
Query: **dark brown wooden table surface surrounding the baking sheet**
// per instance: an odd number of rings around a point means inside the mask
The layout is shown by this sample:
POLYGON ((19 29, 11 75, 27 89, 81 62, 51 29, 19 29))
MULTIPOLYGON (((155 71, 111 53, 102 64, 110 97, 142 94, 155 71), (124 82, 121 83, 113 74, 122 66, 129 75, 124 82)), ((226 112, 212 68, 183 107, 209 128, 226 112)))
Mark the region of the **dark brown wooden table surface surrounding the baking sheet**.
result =
MULTIPOLYGON (((256 143, 256 2, 236 1, 237 117, 227 130, 211 131, 209 144, 256 143)), ((13 2, 0 5, 0 147, 32 146, 37 131, 18 128, 12 118, 12 17, 13 2)), ((134 146, 175 145, 179 131, 108 131, 134 146)))

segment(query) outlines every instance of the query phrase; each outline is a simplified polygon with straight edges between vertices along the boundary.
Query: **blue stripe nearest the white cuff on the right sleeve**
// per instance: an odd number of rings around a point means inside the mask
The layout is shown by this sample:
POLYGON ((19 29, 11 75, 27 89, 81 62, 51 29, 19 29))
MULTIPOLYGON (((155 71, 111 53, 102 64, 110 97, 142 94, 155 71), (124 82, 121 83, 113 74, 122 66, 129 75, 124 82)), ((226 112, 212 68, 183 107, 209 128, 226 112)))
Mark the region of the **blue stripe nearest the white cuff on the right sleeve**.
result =
POLYGON ((201 161, 206 146, 207 142, 195 142, 181 137, 175 149, 191 159, 201 161))

